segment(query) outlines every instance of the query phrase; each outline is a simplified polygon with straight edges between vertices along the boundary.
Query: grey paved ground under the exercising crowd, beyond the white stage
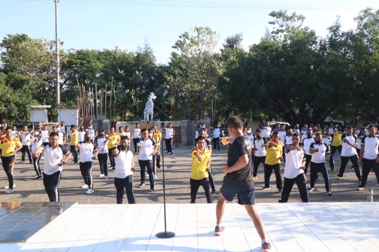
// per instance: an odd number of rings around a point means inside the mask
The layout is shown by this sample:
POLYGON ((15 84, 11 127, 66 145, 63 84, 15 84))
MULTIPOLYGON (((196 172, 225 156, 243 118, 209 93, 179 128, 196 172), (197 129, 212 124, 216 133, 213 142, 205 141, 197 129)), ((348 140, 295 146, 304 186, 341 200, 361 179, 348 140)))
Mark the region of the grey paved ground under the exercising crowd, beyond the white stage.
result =
MULTIPOLYGON (((172 156, 165 156, 165 178, 166 178, 166 202, 167 203, 189 203, 189 174, 191 172, 191 158, 190 148, 176 148, 172 156)), ((15 192, 12 194, 0 194, 0 201, 48 201, 48 196, 44 191, 42 180, 34 180, 35 172, 32 165, 26 163, 19 163, 21 154, 17 157, 15 165, 15 192)), ((336 167, 339 167, 339 156, 335 157, 336 167)), ((43 161, 42 167, 43 167, 43 161)), ((226 162, 226 149, 220 151, 215 150, 212 153, 212 170, 216 182, 217 193, 213 196, 216 201, 219 196, 219 188, 223 178, 222 166, 226 162)), ((148 192, 149 185, 146 187, 138 188, 139 184, 139 167, 137 158, 135 157, 137 171, 134 172, 134 194, 137 203, 163 203, 163 187, 162 187, 162 171, 158 172, 158 180, 156 180, 155 191, 148 192)), ((316 183, 316 190, 310 192, 310 201, 312 202, 334 202, 334 201, 366 201, 366 190, 356 191, 358 186, 354 170, 349 169, 351 164, 344 174, 343 180, 337 180, 336 173, 329 173, 331 178, 331 186, 333 196, 328 197, 324 188, 324 181, 319 174, 319 182, 316 183)), ((93 178, 94 178, 94 193, 85 194, 86 189, 80 188, 83 185, 83 179, 80 175, 78 164, 65 165, 63 170, 62 180, 60 183, 61 201, 77 201, 79 204, 115 204, 116 203, 116 190, 114 187, 113 172, 110 171, 110 178, 105 180, 98 177, 100 168, 98 161, 93 164, 93 178)), ((5 172, 0 171, 0 186, 8 185, 5 172)), ((309 180, 309 173, 307 175, 309 180)), ((148 183, 147 179, 147 183, 148 183)), ((271 190, 263 191, 263 167, 262 165, 258 170, 258 179, 255 183, 257 203, 276 203, 280 198, 279 193, 275 188, 275 176, 271 176, 271 190)), ((309 186, 309 182, 308 182, 309 186)), ((373 173, 370 173, 366 188, 374 190, 374 201, 379 201, 379 186, 373 173)), ((5 189, 4 189, 5 190, 5 189)), ((127 203, 126 196, 124 196, 124 203, 127 203)), ((236 201, 236 200, 235 200, 236 201)), ((296 185, 290 195, 290 202, 299 202, 300 197, 296 185)), ((202 188, 199 189, 197 203, 206 203, 206 198, 202 188)))

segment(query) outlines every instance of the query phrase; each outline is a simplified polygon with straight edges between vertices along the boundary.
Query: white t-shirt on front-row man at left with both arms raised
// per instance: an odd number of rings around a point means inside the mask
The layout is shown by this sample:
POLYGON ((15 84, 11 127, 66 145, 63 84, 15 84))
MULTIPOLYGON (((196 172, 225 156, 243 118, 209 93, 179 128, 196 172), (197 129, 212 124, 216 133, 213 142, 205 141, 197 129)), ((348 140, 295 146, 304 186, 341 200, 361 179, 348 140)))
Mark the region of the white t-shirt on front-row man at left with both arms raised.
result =
POLYGON ((50 147, 49 143, 42 143, 43 157, 45 166, 43 173, 46 175, 52 175, 58 171, 63 170, 63 166, 58 166, 63 161, 63 156, 70 154, 70 151, 63 145, 58 144, 54 149, 50 147))

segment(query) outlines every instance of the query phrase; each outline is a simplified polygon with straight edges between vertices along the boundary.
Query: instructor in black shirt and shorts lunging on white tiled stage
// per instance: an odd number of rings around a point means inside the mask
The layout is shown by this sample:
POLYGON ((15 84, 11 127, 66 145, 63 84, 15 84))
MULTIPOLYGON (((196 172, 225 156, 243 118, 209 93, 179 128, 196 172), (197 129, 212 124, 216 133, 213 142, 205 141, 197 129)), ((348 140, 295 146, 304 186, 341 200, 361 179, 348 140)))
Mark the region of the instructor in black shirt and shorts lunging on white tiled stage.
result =
POLYGON ((227 164, 223 167, 226 175, 220 189, 220 198, 217 202, 215 235, 221 235, 225 230, 222 226, 222 216, 225 211, 226 200, 232 201, 235 194, 240 204, 244 205, 254 226, 262 239, 263 251, 271 248, 265 232, 264 224, 255 207, 254 181, 251 172, 251 141, 244 136, 244 122, 238 117, 229 118, 227 121, 229 137, 232 143, 228 149, 227 164))

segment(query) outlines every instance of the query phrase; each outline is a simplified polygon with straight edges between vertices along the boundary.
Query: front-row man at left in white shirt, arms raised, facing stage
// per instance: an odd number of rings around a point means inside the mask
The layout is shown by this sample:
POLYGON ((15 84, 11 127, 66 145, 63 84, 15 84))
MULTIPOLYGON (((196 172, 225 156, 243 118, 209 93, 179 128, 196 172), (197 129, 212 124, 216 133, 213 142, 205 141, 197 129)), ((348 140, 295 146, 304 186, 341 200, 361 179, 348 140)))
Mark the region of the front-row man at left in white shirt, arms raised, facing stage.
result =
POLYGON ((59 201, 58 186, 61 181, 63 165, 71 157, 70 150, 58 144, 58 140, 58 132, 51 132, 49 143, 42 143, 33 153, 35 158, 40 152, 44 153, 43 185, 50 202, 59 201))

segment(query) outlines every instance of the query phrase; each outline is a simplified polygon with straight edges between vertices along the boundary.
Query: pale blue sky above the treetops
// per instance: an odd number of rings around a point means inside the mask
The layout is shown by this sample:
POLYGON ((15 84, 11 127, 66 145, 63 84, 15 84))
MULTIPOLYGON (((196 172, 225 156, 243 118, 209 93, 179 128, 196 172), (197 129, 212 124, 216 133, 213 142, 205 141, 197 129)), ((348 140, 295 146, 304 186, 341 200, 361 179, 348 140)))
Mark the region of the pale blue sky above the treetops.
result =
MULTIPOLYGON (((318 36, 341 16, 343 30, 354 29, 354 17, 377 0, 60 0, 59 37, 63 49, 112 49, 129 52, 148 43, 157 64, 167 64, 179 35, 195 26, 209 26, 225 38, 243 34, 243 46, 258 43, 273 19, 271 11, 287 10, 306 17, 318 36)), ((0 0, 0 38, 25 33, 55 40, 53 0, 0 0)))

